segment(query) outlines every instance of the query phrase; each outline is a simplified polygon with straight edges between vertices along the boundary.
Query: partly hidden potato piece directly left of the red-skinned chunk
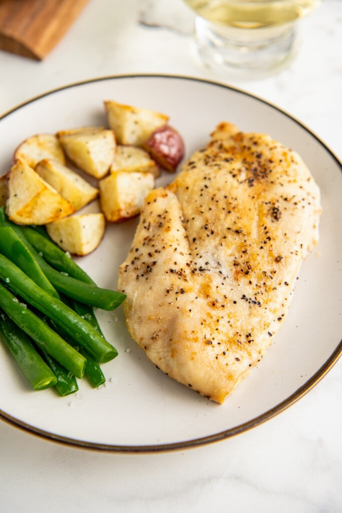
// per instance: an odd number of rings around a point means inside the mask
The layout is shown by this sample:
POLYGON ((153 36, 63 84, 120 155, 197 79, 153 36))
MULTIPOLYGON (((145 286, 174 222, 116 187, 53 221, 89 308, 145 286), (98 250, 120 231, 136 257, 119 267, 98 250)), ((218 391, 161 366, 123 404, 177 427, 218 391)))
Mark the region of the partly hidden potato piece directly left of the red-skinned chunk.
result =
POLYGON ((136 146, 117 146, 110 171, 152 173, 156 178, 160 175, 159 166, 147 151, 136 146))

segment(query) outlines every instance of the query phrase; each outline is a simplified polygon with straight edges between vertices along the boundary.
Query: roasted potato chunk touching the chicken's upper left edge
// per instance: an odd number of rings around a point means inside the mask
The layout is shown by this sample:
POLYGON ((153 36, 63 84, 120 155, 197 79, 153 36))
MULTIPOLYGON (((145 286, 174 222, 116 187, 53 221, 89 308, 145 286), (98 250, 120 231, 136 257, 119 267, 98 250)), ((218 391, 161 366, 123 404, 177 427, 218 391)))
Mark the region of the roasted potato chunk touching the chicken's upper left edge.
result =
POLYGON ((153 187, 152 173, 117 171, 100 180, 100 205, 106 220, 123 221, 137 215, 153 187))

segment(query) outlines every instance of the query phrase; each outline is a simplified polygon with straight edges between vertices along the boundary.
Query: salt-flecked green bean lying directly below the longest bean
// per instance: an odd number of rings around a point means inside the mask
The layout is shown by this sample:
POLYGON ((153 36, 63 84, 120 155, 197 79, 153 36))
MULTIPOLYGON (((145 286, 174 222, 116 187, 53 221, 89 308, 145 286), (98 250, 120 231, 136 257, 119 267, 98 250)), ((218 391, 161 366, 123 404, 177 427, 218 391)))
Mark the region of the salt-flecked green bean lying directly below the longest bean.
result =
MULTIPOLYGON (((6 257, 0 255, 0 259, 5 258, 6 257)), ((11 266, 14 266, 14 264, 11 263, 11 266)), ((26 277, 20 269, 18 269, 18 271, 26 277)), ((34 287, 37 287, 32 280, 29 278, 27 278, 27 280, 29 280, 34 287)), ((39 289, 39 287, 37 288, 39 289)), ((49 296, 49 294, 43 289, 39 290, 41 290, 49 299, 59 301, 56 298, 49 296)), ((8 317, 12 319, 17 326, 19 326, 19 328, 25 331, 25 333, 34 340, 39 348, 48 352, 53 358, 55 358, 55 360, 72 372, 72 374, 77 378, 82 378, 86 366, 86 359, 82 354, 79 354, 73 347, 59 337, 59 335, 39 319, 26 304, 15 298, 7 287, 1 283, 0 307, 7 313, 8 317)))

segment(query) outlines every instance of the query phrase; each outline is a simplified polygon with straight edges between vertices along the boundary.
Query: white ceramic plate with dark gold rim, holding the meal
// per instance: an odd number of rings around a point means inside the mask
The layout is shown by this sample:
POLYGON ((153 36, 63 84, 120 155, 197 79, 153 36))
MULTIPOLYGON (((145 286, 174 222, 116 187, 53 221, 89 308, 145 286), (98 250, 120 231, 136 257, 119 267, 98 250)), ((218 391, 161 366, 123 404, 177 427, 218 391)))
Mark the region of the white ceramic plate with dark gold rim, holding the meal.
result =
MULTIPOLYGON (((119 356, 103 366, 106 386, 59 398, 32 391, 0 347, 0 416, 47 439, 111 451, 176 449, 246 431, 290 406, 331 368, 342 351, 341 165, 306 127, 243 91, 176 76, 114 76, 74 84, 34 98, 0 120, 1 172, 13 149, 38 132, 106 123, 104 100, 147 107, 171 116, 186 156, 206 144, 220 121, 268 132, 298 151, 318 182, 323 203, 320 242, 304 263, 290 313, 265 359, 219 406, 165 376, 130 339, 122 307, 98 312, 119 356)), ((164 184, 172 175, 164 174, 164 184)), ((96 251, 78 262, 98 285, 115 288, 136 220, 109 226, 96 251)))

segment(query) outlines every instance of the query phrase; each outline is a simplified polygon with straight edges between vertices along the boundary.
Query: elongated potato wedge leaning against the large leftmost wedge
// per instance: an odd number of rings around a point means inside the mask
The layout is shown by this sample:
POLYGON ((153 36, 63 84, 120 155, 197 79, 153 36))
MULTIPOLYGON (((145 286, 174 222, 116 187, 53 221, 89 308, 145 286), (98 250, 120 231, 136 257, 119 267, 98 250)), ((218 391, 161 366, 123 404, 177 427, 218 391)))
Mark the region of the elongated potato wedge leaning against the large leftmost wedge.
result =
POLYGON ((97 187, 93 187, 75 171, 56 161, 42 160, 36 165, 35 171, 68 200, 75 210, 84 207, 98 196, 97 187))

